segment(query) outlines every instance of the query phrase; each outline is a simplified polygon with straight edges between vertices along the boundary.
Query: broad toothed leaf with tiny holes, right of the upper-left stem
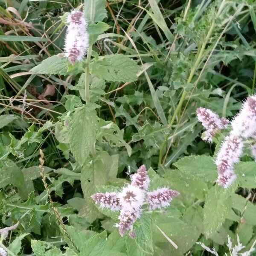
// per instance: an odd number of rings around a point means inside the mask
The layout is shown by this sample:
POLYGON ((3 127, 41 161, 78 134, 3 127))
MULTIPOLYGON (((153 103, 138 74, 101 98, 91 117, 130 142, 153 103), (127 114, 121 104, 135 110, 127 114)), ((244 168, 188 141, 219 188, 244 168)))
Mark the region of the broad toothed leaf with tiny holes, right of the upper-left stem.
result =
POLYGON ((134 60, 123 54, 105 55, 90 63, 90 73, 106 81, 136 81, 139 69, 134 60))

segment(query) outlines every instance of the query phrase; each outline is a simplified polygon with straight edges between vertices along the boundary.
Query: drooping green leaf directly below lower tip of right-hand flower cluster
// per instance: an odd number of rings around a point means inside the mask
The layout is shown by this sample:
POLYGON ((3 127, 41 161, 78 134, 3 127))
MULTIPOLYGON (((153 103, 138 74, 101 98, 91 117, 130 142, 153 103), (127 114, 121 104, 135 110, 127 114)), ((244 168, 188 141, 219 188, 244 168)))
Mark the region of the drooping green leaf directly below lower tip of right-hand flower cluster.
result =
POLYGON ((224 223, 231 210, 230 191, 214 186, 207 195, 204 214, 204 234, 207 238, 214 235, 224 223))

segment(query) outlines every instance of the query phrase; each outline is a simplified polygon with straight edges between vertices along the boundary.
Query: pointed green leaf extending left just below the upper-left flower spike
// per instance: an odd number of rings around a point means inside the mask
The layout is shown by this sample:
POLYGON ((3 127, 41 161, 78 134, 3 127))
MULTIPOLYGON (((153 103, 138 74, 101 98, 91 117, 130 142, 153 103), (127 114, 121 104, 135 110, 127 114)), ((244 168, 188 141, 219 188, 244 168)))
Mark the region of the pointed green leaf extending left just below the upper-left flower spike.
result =
POLYGON ((44 75, 66 75, 67 74, 67 58, 53 55, 40 64, 33 67, 30 72, 44 75))

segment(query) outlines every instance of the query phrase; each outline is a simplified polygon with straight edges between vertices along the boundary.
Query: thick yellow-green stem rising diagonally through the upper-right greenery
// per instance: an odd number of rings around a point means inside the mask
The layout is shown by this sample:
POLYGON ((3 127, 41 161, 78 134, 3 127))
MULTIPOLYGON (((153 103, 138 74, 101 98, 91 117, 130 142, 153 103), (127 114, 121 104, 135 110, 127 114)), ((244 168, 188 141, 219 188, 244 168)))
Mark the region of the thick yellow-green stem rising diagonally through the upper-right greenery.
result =
MULTIPOLYGON (((198 69, 198 66, 199 66, 199 64, 200 64, 200 62, 201 62, 201 60, 202 60, 202 56, 203 56, 203 53, 204 53, 204 49, 205 49, 205 47, 206 47, 206 45, 207 45, 207 43, 208 43, 208 41, 209 41, 209 38, 210 38, 210 36, 211 36, 211 34, 212 34, 212 31, 213 31, 214 27, 215 27, 215 20, 212 21, 212 24, 211 24, 211 26, 210 26, 210 28, 209 28, 209 31, 208 31, 208 33, 207 33, 207 35, 206 35, 206 38, 205 38, 205 40, 204 40, 204 42, 203 42, 203 44, 202 44, 202 46, 201 46, 200 51, 198 52, 198 56, 197 56, 197 58, 196 58, 196 60, 195 60, 195 63, 194 63, 194 65, 193 65, 193 67, 192 67, 192 69, 191 69, 191 71, 190 71, 189 78, 188 78, 188 80, 187 80, 187 82, 186 82, 186 85, 188 85, 188 84, 191 83, 192 78, 193 78, 193 76, 195 75, 196 70, 198 69)), ((180 109, 182 108, 182 105, 183 105, 184 100, 186 99, 186 96, 187 96, 187 93, 186 93, 186 90, 184 89, 184 90, 183 90, 183 93, 182 93, 182 95, 181 95, 181 97, 180 97, 180 101, 179 101, 179 103, 178 103, 178 105, 177 105, 177 108, 175 109, 175 111, 174 111, 174 113, 173 113, 173 116, 172 116, 172 119, 171 119, 171 121, 169 122, 170 128, 172 128, 172 125, 173 125, 174 122, 175 122, 175 118, 176 118, 177 114, 180 112, 180 109)), ((166 143, 167 143, 167 138, 168 138, 168 137, 169 137, 169 136, 166 135, 165 140, 163 141, 163 143, 162 143, 161 146, 160 146, 158 165, 160 165, 160 164, 162 163, 163 151, 164 151, 164 149, 165 149, 165 147, 166 147, 166 143)))

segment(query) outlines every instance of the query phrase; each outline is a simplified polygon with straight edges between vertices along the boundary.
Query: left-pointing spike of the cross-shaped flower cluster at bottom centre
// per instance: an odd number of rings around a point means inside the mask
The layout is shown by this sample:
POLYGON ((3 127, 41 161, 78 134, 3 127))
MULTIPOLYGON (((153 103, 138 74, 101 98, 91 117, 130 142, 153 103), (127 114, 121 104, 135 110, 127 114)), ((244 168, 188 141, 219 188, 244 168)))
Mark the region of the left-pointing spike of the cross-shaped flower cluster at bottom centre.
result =
POLYGON ((102 208, 110 208, 112 211, 121 209, 120 200, 116 192, 96 193, 91 198, 102 208))

